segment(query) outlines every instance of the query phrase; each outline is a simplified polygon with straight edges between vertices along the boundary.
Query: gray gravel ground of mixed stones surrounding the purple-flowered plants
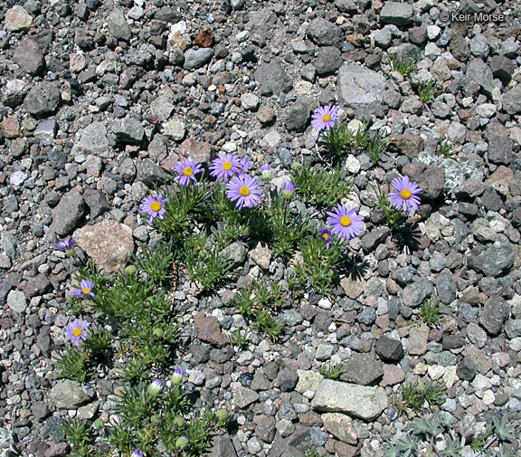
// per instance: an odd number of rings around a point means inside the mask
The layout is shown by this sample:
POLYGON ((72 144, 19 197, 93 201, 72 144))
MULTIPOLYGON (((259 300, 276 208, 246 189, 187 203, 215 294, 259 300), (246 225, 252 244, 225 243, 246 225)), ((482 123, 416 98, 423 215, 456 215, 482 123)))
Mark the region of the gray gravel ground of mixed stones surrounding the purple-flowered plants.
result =
MULTIPOLYGON (((254 167, 270 163, 280 185, 293 161, 321 160, 310 116, 329 103, 389 140, 378 166, 355 151, 343 164, 367 226, 350 247, 366 267, 328 298, 310 292, 286 303, 278 344, 251 333, 242 350, 223 337, 243 325, 232 294, 262 277, 280 281, 286 265, 235 243, 236 281, 207 297, 177 291, 187 388, 201 391, 198 406, 223 406, 238 424, 212 455, 301 457, 314 445, 321 455, 380 456, 414 415, 399 414, 393 395, 415 381, 443 381, 439 409, 457 420, 506 415, 518 435, 516 2, 0 5, 1 456, 9 447, 65 455, 63 420, 107 421, 113 406, 114 377, 58 379, 52 355, 68 344, 71 265, 54 243, 88 233, 82 249, 117 269, 137 243, 157 238, 139 205, 178 157, 248 155, 254 167), (504 17, 443 22, 448 11, 504 17), (396 52, 418 59, 418 70, 392 71, 396 52), (427 103, 422 81, 435 81, 427 103), (444 140, 456 152, 448 160, 435 154, 444 140), (370 185, 396 173, 423 189, 413 252, 397 249, 371 209, 370 185), (118 251, 97 251, 108 237, 118 251), (443 316, 430 328, 418 309, 435 297, 443 316), (322 382, 324 363, 345 365, 340 380, 322 382)), ((516 440, 510 446, 518 452, 516 440)))

